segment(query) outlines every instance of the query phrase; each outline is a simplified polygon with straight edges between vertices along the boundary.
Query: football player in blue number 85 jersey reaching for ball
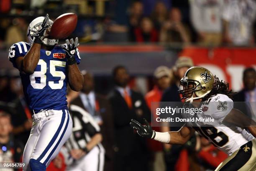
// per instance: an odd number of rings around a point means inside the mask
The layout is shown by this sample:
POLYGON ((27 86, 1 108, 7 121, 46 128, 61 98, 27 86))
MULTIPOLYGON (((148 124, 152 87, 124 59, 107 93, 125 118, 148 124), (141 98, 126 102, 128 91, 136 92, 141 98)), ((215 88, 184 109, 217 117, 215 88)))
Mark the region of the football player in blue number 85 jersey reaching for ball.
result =
POLYGON ((28 26, 30 43, 18 42, 9 50, 9 60, 20 71, 23 91, 33 112, 33 126, 23 154, 23 171, 45 171, 72 133, 67 108, 67 83, 74 91, 82 89, 83 76, 77 64, 78 38, 58 40, 49 37, 53 21, 34 19, 28 26))

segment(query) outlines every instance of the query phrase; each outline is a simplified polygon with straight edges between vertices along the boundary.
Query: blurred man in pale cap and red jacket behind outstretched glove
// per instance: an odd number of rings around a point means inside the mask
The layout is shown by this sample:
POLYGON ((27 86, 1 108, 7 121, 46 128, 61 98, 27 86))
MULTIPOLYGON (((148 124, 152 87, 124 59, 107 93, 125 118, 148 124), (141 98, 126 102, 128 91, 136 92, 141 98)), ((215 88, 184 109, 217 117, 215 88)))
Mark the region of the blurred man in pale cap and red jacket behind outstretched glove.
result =
MULTIPOLYGON (((155 86, 145 96, 148 107, 151 109, 151 102, 160 102, 163 91, 170 86, 171 82, 171 71, 166 66, 159 66, 154 71, 154 82, 155 86)), ((156 116, 154 116, 156 117, 156 116)), ((159 127, 153 127, 155 131, 161 132, 159 127)), ((151 151, 153 151, 153 171, 165 171, 163 144, 155 141, 148 140, 148 145, 151 151)))

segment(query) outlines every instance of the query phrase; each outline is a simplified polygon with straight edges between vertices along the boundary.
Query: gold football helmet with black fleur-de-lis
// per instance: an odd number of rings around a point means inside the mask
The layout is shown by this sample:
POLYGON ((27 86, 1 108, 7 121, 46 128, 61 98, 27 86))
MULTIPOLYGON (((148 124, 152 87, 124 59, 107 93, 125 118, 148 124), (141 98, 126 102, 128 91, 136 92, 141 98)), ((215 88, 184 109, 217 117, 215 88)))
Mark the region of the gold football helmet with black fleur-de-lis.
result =
POLYGON ((214 77, 208 69, 200 66, 191 67, 180 80, 179 96, 186 102, 200 99, 210 93, 213 83, 214 77))

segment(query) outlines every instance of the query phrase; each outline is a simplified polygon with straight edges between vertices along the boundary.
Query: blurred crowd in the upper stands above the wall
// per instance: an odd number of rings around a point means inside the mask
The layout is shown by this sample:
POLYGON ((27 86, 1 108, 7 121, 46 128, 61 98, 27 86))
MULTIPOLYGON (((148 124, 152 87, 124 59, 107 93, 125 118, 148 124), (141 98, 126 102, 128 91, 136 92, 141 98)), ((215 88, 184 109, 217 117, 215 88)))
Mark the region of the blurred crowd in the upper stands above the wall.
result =
POLYGON ((49 13, 54 20, 61 14, 56 10, 78 14, 77 29, 72 36, 78 36, 81 42, 197 43, 202 46, 252 46, 255 43, 255 0, 105 0, 102 3, 31 0, 30 4, 24 1, 25 6, 13 4, 15 1, 0 2, 6 7, 0 8, 0 13, 8 16, 0 19, 0 47, 26 41, 25 33, 33 16, 49 13))

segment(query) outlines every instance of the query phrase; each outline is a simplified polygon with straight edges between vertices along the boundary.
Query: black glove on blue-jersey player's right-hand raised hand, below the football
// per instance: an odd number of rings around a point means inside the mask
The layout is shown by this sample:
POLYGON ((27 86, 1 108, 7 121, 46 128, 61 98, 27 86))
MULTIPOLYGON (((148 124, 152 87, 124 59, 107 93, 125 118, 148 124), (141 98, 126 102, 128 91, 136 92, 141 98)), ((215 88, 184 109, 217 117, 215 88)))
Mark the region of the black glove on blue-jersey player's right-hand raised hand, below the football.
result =
POLYGON ((73 40, 73 38, 70 39, 70 41, 67 39, 66 43, 67 43, 67 47, 64 45, 61 45, 61 48, 66 52, 68 64, 69 65, 75 64, 76 59, 74 56, 77 54, 77 47, 79 46, 78 38, 76 38, 75 41, 73 40))

